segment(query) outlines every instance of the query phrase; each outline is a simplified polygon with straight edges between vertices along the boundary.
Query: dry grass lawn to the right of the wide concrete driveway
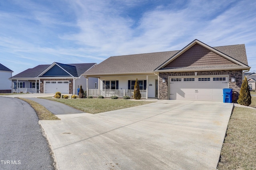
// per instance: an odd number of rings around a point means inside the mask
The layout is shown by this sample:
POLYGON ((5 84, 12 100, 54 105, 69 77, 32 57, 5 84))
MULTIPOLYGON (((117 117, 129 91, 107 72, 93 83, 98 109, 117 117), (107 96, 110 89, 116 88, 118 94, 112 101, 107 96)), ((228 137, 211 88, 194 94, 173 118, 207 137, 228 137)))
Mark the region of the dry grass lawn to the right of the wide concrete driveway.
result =
POLYGON ((218 170, 256 169, 256 109, 234 107, 220 155, 218 170))

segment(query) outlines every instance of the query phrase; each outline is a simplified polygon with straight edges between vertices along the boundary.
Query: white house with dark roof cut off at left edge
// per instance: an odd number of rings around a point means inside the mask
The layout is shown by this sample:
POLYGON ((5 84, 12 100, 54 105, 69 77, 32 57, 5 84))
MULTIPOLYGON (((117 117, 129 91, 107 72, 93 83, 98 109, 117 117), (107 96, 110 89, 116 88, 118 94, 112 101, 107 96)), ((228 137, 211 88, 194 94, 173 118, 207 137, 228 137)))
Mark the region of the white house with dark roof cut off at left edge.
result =
POLYGON ((8 80, 12 77, 13 71, 0 64, 0 93, 11 93, 12 82, 8 80))

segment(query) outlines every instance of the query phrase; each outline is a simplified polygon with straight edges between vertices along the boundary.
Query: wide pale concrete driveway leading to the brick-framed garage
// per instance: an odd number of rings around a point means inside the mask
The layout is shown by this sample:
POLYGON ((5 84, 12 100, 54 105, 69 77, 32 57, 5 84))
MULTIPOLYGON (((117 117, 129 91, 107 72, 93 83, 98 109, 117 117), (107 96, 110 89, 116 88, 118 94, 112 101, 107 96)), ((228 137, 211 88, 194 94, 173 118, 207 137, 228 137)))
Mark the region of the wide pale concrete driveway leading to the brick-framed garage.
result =
POLYGON ((232 103, 163 100, 40 121, 64 169, 216 169, 232 103))

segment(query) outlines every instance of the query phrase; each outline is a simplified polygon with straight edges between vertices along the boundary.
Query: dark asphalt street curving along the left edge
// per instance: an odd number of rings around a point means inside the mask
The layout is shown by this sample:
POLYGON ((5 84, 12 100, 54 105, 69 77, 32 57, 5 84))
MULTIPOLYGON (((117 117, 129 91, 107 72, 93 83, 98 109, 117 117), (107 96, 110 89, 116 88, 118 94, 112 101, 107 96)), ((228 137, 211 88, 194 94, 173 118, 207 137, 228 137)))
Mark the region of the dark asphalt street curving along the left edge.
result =
POLYGON ((28 103, 0 97, 0 169, 53 170, 53 158, 36 112, 28 103))

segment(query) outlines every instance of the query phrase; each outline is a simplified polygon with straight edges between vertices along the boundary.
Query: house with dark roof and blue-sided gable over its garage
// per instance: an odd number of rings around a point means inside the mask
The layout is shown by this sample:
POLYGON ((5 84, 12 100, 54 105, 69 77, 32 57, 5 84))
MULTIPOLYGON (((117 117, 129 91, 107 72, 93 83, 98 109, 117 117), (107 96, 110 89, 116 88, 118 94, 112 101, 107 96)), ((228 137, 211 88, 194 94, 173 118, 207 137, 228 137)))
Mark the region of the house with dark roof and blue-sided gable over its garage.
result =
MULTIPOLYGON (((13 77, 12 93, 56 93, 77 94, 82 85, 86 89, 86 78, 82 73, 97 65, 96 63, 38 65, 13 77)), ((90 89, 98 88, 98 79, 88 79, 90 89)))

